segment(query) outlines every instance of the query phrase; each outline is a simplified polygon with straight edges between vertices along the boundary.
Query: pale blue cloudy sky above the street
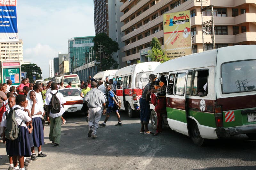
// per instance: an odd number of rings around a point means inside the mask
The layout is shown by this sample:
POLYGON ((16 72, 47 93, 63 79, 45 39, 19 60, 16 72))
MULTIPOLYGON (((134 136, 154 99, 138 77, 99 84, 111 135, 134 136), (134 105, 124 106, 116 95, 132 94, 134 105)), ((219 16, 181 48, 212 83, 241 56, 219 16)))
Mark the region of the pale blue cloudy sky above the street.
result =
POLYGON ((17 21, 23 60, 48 78, 49 60, 68 53, 68 39, 94 36, 93 0, 17 0, 17 21))

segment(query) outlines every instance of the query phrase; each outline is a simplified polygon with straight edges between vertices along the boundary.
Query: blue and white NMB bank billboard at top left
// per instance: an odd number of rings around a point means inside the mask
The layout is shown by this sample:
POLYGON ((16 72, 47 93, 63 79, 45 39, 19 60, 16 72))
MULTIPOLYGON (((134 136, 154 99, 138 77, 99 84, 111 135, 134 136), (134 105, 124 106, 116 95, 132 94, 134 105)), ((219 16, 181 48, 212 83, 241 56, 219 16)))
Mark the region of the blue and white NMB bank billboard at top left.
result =
POLYGON ((16 0, 0 0, 0 42, 19 41, 16 0))

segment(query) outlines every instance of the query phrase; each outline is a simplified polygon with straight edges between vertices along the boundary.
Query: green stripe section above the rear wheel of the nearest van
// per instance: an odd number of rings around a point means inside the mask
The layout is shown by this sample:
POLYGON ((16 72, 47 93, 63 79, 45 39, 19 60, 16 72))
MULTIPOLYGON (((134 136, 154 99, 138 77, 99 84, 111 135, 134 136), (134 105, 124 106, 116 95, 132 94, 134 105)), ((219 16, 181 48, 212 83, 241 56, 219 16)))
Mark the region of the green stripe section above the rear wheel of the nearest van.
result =
POLYGON ((194 117, 200 125, 216 128, 214 114, 188 110, 188 115, 194 117))

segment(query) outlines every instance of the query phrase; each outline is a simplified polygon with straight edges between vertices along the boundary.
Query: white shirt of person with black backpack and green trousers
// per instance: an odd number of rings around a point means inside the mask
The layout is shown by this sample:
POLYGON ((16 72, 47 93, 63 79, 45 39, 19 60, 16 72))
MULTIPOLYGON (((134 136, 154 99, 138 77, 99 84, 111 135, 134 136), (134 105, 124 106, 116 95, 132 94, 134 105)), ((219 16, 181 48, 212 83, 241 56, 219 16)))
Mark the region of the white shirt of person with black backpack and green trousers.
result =
MULTIPOLYGON (((55 94, 56 92, 57 92, 57 90, 52 90, 52 94, 55 94)), ((51 99, 52 99, 52 94, 51 94, 51 93, 48 93, 48 94, 46 95, 46 98, 45 98, 45 104, 46 104, 46 105, 50 105, 51 99)), ((57 96, 57 98, 60 100, 60 112, 59 112, 59 113, 53 113, 53 114, 52 114, 52 112, 50 111, 50 116, 51 116, 52 118, 59 117, 59 116, 63 115, 63 113, 65 112, 65 110, 64 110, 64 108, 62 107, 61 104, 66 103, 66 100, 64 99, 63 95, 62 95, 60 92, 58 92, 58 93, 56 94, 56 96, 57 96)))

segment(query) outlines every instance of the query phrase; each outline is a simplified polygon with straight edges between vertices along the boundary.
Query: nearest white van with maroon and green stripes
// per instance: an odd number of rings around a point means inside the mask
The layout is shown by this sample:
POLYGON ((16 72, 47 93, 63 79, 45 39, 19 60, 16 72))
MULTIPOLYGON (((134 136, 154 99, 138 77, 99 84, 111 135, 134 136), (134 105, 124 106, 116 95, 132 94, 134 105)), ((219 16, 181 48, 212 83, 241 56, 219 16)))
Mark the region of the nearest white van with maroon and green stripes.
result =
MULTIPOLYGON (((204 139, 256 138, 256 45, 228 46, 169 60, 153 74, 167 78, 164 124, 204 139)), ((151 123, 156 114, 151 105, 151 123)))

